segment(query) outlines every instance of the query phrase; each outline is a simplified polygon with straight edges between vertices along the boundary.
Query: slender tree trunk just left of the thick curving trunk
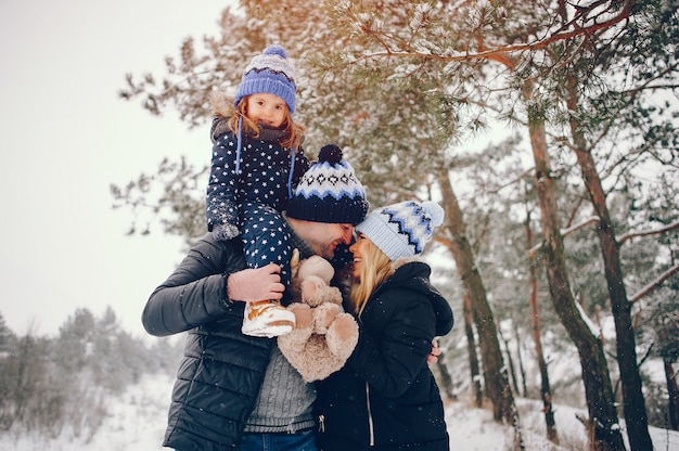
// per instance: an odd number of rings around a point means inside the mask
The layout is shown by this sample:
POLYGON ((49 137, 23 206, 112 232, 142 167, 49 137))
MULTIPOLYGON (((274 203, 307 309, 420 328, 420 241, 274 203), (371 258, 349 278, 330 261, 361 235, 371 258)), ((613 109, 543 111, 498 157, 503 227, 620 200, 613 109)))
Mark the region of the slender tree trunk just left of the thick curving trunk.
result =
MULTIPOLYGON (((533 232, 530 230, 530 211, 526 212, 526 242, 528 249, 533 248, 533 232)), ((547 362, 542 352, 542 340, 540 339, 540 309, 538 307, 538 278, 534 259, 530 259, 530 317, 533 318, 533 340, 535 342, 535 355, 538 359, 540 370, 540 397, 542 398, 542 412, 545 412, 545 424, 547 425, 547 438, 559 444, 559 434, 554 422, 554 410, 552 409, 552 389, 549 384, 549 373, 547 362)))

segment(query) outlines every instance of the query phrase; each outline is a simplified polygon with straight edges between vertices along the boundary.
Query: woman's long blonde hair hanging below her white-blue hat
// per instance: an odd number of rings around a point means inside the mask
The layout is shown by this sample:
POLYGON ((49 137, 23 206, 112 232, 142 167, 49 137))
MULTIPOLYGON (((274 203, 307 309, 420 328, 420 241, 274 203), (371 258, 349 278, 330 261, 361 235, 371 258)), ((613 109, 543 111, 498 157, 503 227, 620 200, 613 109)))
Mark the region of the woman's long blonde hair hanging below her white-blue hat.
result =
POLYGON ((360 280, 354 281, 349 294, 349 306, 359 317, 363 313, 370 295, 394 273, 394 267, 389 257, 375 246, 372 241, 364 240, 368 241, 368 246, 364 249, 359 270, 360 280))

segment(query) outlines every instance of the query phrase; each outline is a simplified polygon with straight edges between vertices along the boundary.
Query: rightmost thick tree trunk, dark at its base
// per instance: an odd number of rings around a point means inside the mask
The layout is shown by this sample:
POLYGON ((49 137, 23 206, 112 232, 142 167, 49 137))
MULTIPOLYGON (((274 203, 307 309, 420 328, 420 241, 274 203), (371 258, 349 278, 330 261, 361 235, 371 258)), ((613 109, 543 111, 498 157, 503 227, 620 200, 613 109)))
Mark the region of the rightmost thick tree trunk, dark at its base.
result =
MULTIPOLYGON (((567 106, 575 112, 578 107, 577 82, 569 74, 567 80, 567 106)), ((649 434, 649 417, 641 387, 641 376, 637 362, 637 345, 631 320, 631 302, 627 299, 625 280, 620 268, 620 247, 606 206, 606 196, 592 154, 588 151, 585 137, 576 119, 571 119, 574 150, 582 171, 582 179, 592 206, 599 216, 599 245, 611 298, 611 311, 615 323, 617 362, 623 384, 623 405, 627 435, 632 451, 653 449, 649 434)))

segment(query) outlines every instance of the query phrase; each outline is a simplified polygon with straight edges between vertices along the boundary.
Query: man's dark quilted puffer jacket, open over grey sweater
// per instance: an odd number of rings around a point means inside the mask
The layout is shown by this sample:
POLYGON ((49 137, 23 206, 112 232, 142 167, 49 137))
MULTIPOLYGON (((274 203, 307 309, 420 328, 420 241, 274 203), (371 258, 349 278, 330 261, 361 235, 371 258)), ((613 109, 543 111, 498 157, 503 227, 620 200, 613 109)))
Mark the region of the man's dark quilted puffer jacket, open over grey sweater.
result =
POLYGON ((158 286, 142 313, 146 331, 189 331, 177 373, 164 446, 238 449, 274 340, 241 333, 244 302, 227 297, 227 274, 246 268, 241 240, 203 237, 158 286))

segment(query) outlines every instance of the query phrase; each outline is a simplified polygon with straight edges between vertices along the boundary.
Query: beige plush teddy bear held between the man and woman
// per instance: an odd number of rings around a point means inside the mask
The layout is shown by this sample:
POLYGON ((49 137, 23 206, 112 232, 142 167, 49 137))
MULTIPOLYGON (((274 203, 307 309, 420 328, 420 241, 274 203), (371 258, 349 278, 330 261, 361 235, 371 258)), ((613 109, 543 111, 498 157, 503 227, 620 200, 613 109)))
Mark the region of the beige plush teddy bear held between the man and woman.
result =
POLYGON ((334 269, 312 256, 291 260, 291 293, 287 307, 295 314, 295 328, 278 337, 279 349, 305 382, 321 381, 344 366, 358 343, 358 324, 342 309, 342 294, 330 286, 334 269))

